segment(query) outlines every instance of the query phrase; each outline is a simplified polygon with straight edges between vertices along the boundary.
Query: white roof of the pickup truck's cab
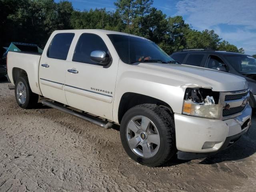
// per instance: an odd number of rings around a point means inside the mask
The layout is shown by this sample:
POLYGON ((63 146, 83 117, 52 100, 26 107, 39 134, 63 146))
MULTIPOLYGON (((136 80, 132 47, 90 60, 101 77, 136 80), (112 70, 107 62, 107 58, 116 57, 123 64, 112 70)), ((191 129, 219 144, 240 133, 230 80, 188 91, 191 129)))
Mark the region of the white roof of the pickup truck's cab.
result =
POLYGON ((123 32, 117 32, 117 31, 110 31, 110 30, 104 30, 104 29, 72 29, 72 30, 56 30, 54 33, 95 33, 95 34, 118 34, 118 35, 127 35, 127 36, 133 36, 138 37, 142 39, 146 39, 144 37, 123 33, 123 32))

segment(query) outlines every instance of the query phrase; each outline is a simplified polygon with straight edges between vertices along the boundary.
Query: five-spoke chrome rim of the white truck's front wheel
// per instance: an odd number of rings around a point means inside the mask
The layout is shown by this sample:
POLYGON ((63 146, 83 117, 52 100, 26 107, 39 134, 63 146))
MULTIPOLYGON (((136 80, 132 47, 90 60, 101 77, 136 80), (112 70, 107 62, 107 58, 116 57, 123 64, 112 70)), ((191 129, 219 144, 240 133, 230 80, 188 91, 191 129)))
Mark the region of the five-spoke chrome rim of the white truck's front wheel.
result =
POLYGON ((155 124, 145 116, 135 116, 126 126, 126 139, 131 150, 143 158, 156 155, 160 136, 155 124))

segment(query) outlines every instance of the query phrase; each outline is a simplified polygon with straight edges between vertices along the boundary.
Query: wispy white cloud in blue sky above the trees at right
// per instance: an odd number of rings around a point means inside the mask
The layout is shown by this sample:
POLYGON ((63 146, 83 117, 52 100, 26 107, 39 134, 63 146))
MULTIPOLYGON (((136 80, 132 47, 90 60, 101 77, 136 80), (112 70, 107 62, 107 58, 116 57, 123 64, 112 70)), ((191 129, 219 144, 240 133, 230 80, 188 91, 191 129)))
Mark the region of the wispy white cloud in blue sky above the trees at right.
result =
POLYGON ((224 40, 243 47, 246 53, 256 53, 255 0, 180 0, 176 15, 198 30, 214 29, 224 40), (233 31, 225 26, 233 26, 233 31))

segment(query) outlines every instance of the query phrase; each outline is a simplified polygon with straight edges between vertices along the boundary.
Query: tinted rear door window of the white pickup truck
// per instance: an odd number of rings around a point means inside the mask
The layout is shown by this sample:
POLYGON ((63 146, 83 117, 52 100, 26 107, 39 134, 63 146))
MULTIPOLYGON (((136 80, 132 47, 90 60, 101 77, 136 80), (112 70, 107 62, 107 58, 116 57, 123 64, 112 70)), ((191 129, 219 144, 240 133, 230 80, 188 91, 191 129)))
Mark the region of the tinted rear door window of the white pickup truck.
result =
POLYGON ((54 36, 47 52, 49 58, 66 60, 74 33, 59 33, 54 36))

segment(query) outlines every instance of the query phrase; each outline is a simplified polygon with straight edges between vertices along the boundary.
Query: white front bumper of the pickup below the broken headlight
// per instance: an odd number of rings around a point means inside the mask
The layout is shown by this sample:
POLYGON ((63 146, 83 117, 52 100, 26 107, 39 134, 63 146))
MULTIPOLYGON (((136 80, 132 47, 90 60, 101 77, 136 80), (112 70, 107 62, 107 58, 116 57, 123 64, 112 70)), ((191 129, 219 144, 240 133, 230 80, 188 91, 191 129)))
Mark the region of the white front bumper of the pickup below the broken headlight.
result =
MULTIPOLYGON (((247 105, 242 114, 228 120, 214 120, 174 114, 176 147, 190 153, 212 153, 223 150, 228 140, 246 133, 251 123, 252 108, 247 105), (205 142, 216 142, 203 148, 205 142)), ((230 141, 229 141, 230 142, 230 141)), ((229 143, 228 142, 228 143, 229 143)))

